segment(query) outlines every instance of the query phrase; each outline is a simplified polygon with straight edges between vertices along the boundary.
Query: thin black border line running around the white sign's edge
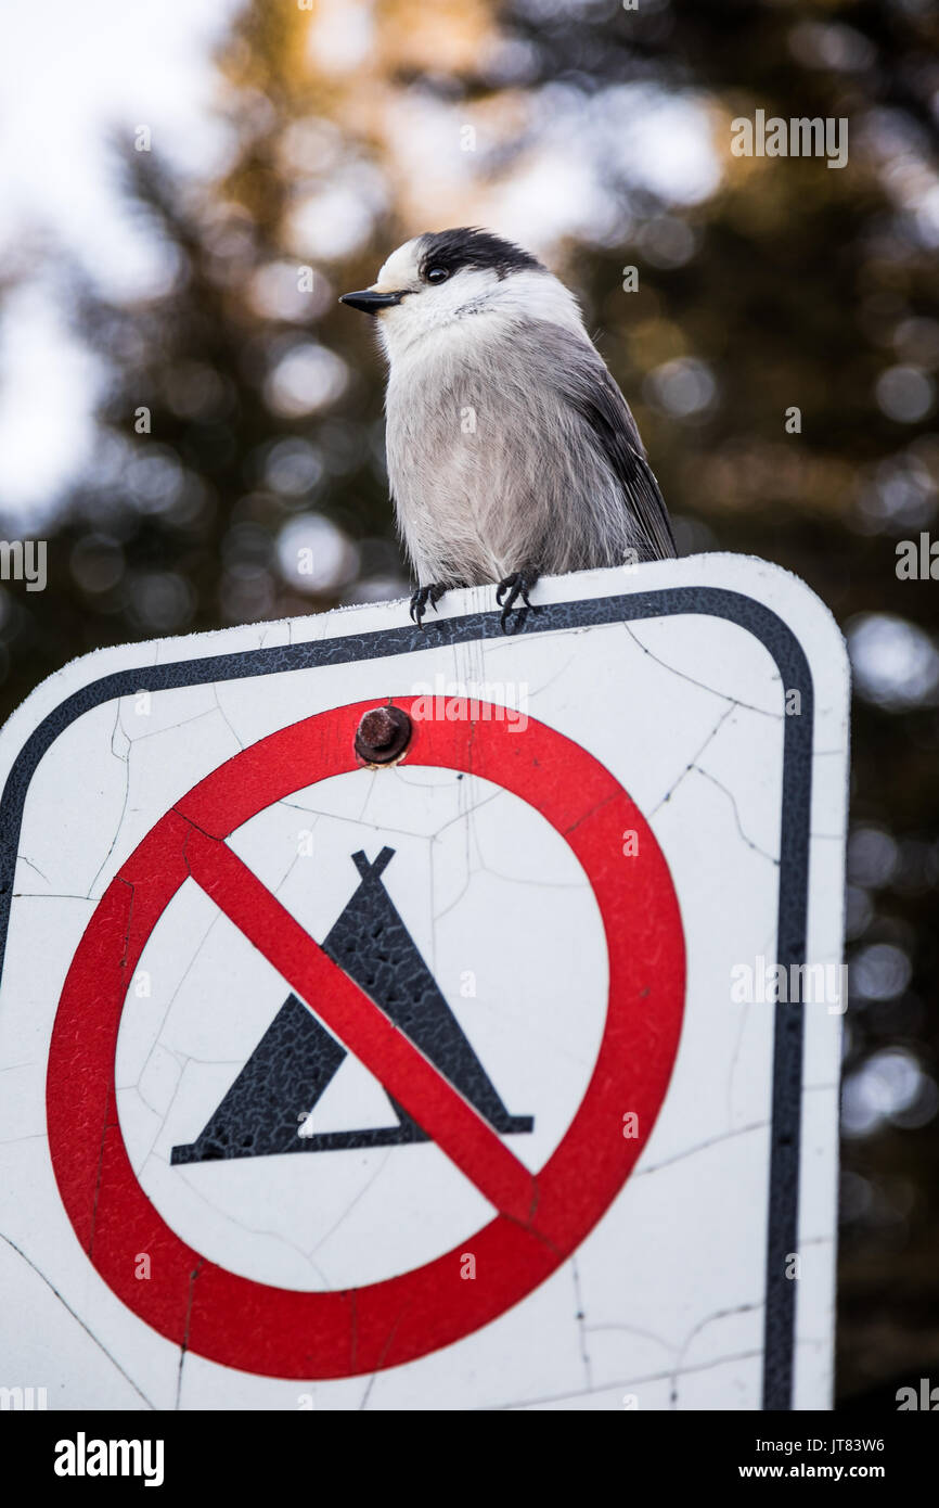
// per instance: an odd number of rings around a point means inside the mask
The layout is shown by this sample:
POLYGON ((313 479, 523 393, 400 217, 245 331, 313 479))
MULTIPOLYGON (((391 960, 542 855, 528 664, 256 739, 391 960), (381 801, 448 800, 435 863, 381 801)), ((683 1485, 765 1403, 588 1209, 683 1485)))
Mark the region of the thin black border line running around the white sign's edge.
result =
MULTIPOLYGON (((782 719, 782 816, 779 831, 778 964, 785 970, 805 964, 808 918, 808 854, 812 787, 814 694, 808 659, 791 629, 763 603, 720 587, 674 587, 582 602, 546 603, 526 615, 521 632, 635 623, 644 618, 704 614, 746 629, 773 656, 784 691, 799 691, 800 716, 782 719)), ((115 671, 72 692, 29 736, 11 769, 0 799, 0 976, 6 956, 9 908, 20 847, 23 807, 29 783, 51 743, 75 718, 116 697, 140 691, 170 691, 206 682, 274 676, 317 665, 384 659, 414 650, 445 648, 470 639, 502 639, 500 614, 472 612, 437 618, 425 629, 405 624, 369 633, 348 633, 309 644, 279 644, 166 665, 139 665, 115 671)), ((791 977, 791 976, 790 976, 791 977)), ((773 1027, 773 1105, 770 1134, 770 1194, 766 1246, 766 1320, 763 1408, 793 1405, 793 1353, 796 1283, 785 1277, 790 1253, 797 1250, 799 1149, 802 1131, 803 1007, 776 1006, 773 1027)))

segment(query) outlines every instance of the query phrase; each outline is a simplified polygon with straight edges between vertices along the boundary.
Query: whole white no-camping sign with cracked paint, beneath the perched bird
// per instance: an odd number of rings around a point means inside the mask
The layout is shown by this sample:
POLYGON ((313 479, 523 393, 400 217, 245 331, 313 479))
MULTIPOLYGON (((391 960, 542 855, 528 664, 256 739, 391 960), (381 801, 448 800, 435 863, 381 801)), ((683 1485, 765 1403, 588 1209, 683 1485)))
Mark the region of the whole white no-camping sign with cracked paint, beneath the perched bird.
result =
POLYGON ((535 602, 102 650, 9 721, 2 1386, 829 1407, 841 636, 729 555, 535 602))

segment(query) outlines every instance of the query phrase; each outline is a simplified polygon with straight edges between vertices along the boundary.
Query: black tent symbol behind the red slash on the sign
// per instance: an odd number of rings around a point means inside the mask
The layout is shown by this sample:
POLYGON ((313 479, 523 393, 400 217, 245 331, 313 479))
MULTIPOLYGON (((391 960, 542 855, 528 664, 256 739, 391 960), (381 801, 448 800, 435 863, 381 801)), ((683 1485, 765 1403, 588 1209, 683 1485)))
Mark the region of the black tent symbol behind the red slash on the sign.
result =
MULTIPOLYGON (((381 873, 393 854, 383 847, 372 864, 362 851, 353 854, 360 882, 327 933, 323 952, 381 1006, 496 1131, 503 1136, 531 1131, 532 1116, 512 1116, 505 1108, 392 905, 381 873)), ((310 1006, 315 1010, 315 1000, 310 1006)), ((197 1139, 175 1146, 170 1161, 427 1142, 427 1134, 390 1096, 393 1125, 298 1136, 298 1107, 307 1114, 314 1110, 345 1057, 347 1050, 336 1038, 295 995, 288 995, 197 1139)))

